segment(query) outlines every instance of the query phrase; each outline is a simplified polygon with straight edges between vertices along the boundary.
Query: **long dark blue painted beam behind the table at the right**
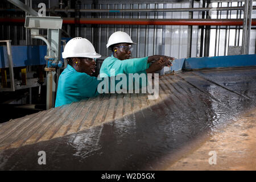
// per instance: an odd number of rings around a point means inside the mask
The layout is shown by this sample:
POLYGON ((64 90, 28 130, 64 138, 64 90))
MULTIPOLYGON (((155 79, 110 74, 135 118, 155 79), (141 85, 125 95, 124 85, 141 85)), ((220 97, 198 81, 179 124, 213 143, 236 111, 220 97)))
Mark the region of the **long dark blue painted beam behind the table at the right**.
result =
POLYGON ((256 55, 191 57, 185 59, 185 69, 227 68, 256 66, 256 55))

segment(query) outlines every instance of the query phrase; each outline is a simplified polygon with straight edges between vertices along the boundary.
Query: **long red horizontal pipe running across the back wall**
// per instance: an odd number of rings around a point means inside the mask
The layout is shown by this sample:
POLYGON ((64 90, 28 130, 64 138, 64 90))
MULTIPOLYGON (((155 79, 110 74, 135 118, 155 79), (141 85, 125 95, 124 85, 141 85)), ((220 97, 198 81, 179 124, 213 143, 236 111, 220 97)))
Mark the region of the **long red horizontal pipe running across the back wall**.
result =
MULTIPOLYGON (((0 22, 24 23, 24 18, 0 18, 0 22)), ((137 24, 137 25, 190 25, 242 26, 243 19, 123 19, 123 18, 63 18, 63 24, 137 24)), ((256 26, 256 19, 251 20, 256 26)))

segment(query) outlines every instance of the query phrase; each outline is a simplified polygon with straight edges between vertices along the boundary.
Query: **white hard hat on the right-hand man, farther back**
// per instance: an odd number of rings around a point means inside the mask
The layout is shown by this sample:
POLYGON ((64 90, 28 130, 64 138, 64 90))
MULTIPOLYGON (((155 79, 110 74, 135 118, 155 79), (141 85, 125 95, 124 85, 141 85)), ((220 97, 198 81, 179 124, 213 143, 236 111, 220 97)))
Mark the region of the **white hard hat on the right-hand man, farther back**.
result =
POLYGON ((136 44, 133 42, 133 40, 131 40, 130 36, 126 34, 126 32, 117 31, 117 32, 114 32, 112 35, 110 35, 109 41, 106 47, 110 49, 110 46, 114 44, 119 44, 119 43, 136 44))

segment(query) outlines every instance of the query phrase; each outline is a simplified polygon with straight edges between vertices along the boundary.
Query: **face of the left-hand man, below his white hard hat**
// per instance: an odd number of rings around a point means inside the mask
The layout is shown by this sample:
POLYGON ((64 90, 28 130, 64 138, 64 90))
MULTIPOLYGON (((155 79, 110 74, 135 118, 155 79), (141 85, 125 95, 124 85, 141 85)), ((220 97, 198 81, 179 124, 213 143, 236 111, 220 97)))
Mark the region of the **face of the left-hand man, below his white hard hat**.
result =
POLYGON ((96 62, 92 58, 76 57, 73 58, 73 68, 75 68, 77 72, 92 76, 95 72, 96 62))

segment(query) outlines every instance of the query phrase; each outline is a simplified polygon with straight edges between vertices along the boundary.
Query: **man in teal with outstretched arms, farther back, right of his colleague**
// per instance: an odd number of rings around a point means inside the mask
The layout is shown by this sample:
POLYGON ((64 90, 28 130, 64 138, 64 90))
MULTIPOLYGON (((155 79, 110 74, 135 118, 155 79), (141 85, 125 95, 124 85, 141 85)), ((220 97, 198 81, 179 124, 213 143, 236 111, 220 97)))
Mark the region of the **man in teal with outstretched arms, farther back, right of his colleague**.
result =
POLYGON ((103 61, 100 69, 100 77, 116 76, 123 73, 138 73, 145 69, 147 70, 152 61, 159 60, 160 58, 167 62, 167 67, 172 65, 169 60, 174 60, 174 58, 162 55, 130 59, 133 48, 132 44, 135 43, 126 32, 117 31, 110 35, 106 47, 111 49, 113 54, 103 61))

